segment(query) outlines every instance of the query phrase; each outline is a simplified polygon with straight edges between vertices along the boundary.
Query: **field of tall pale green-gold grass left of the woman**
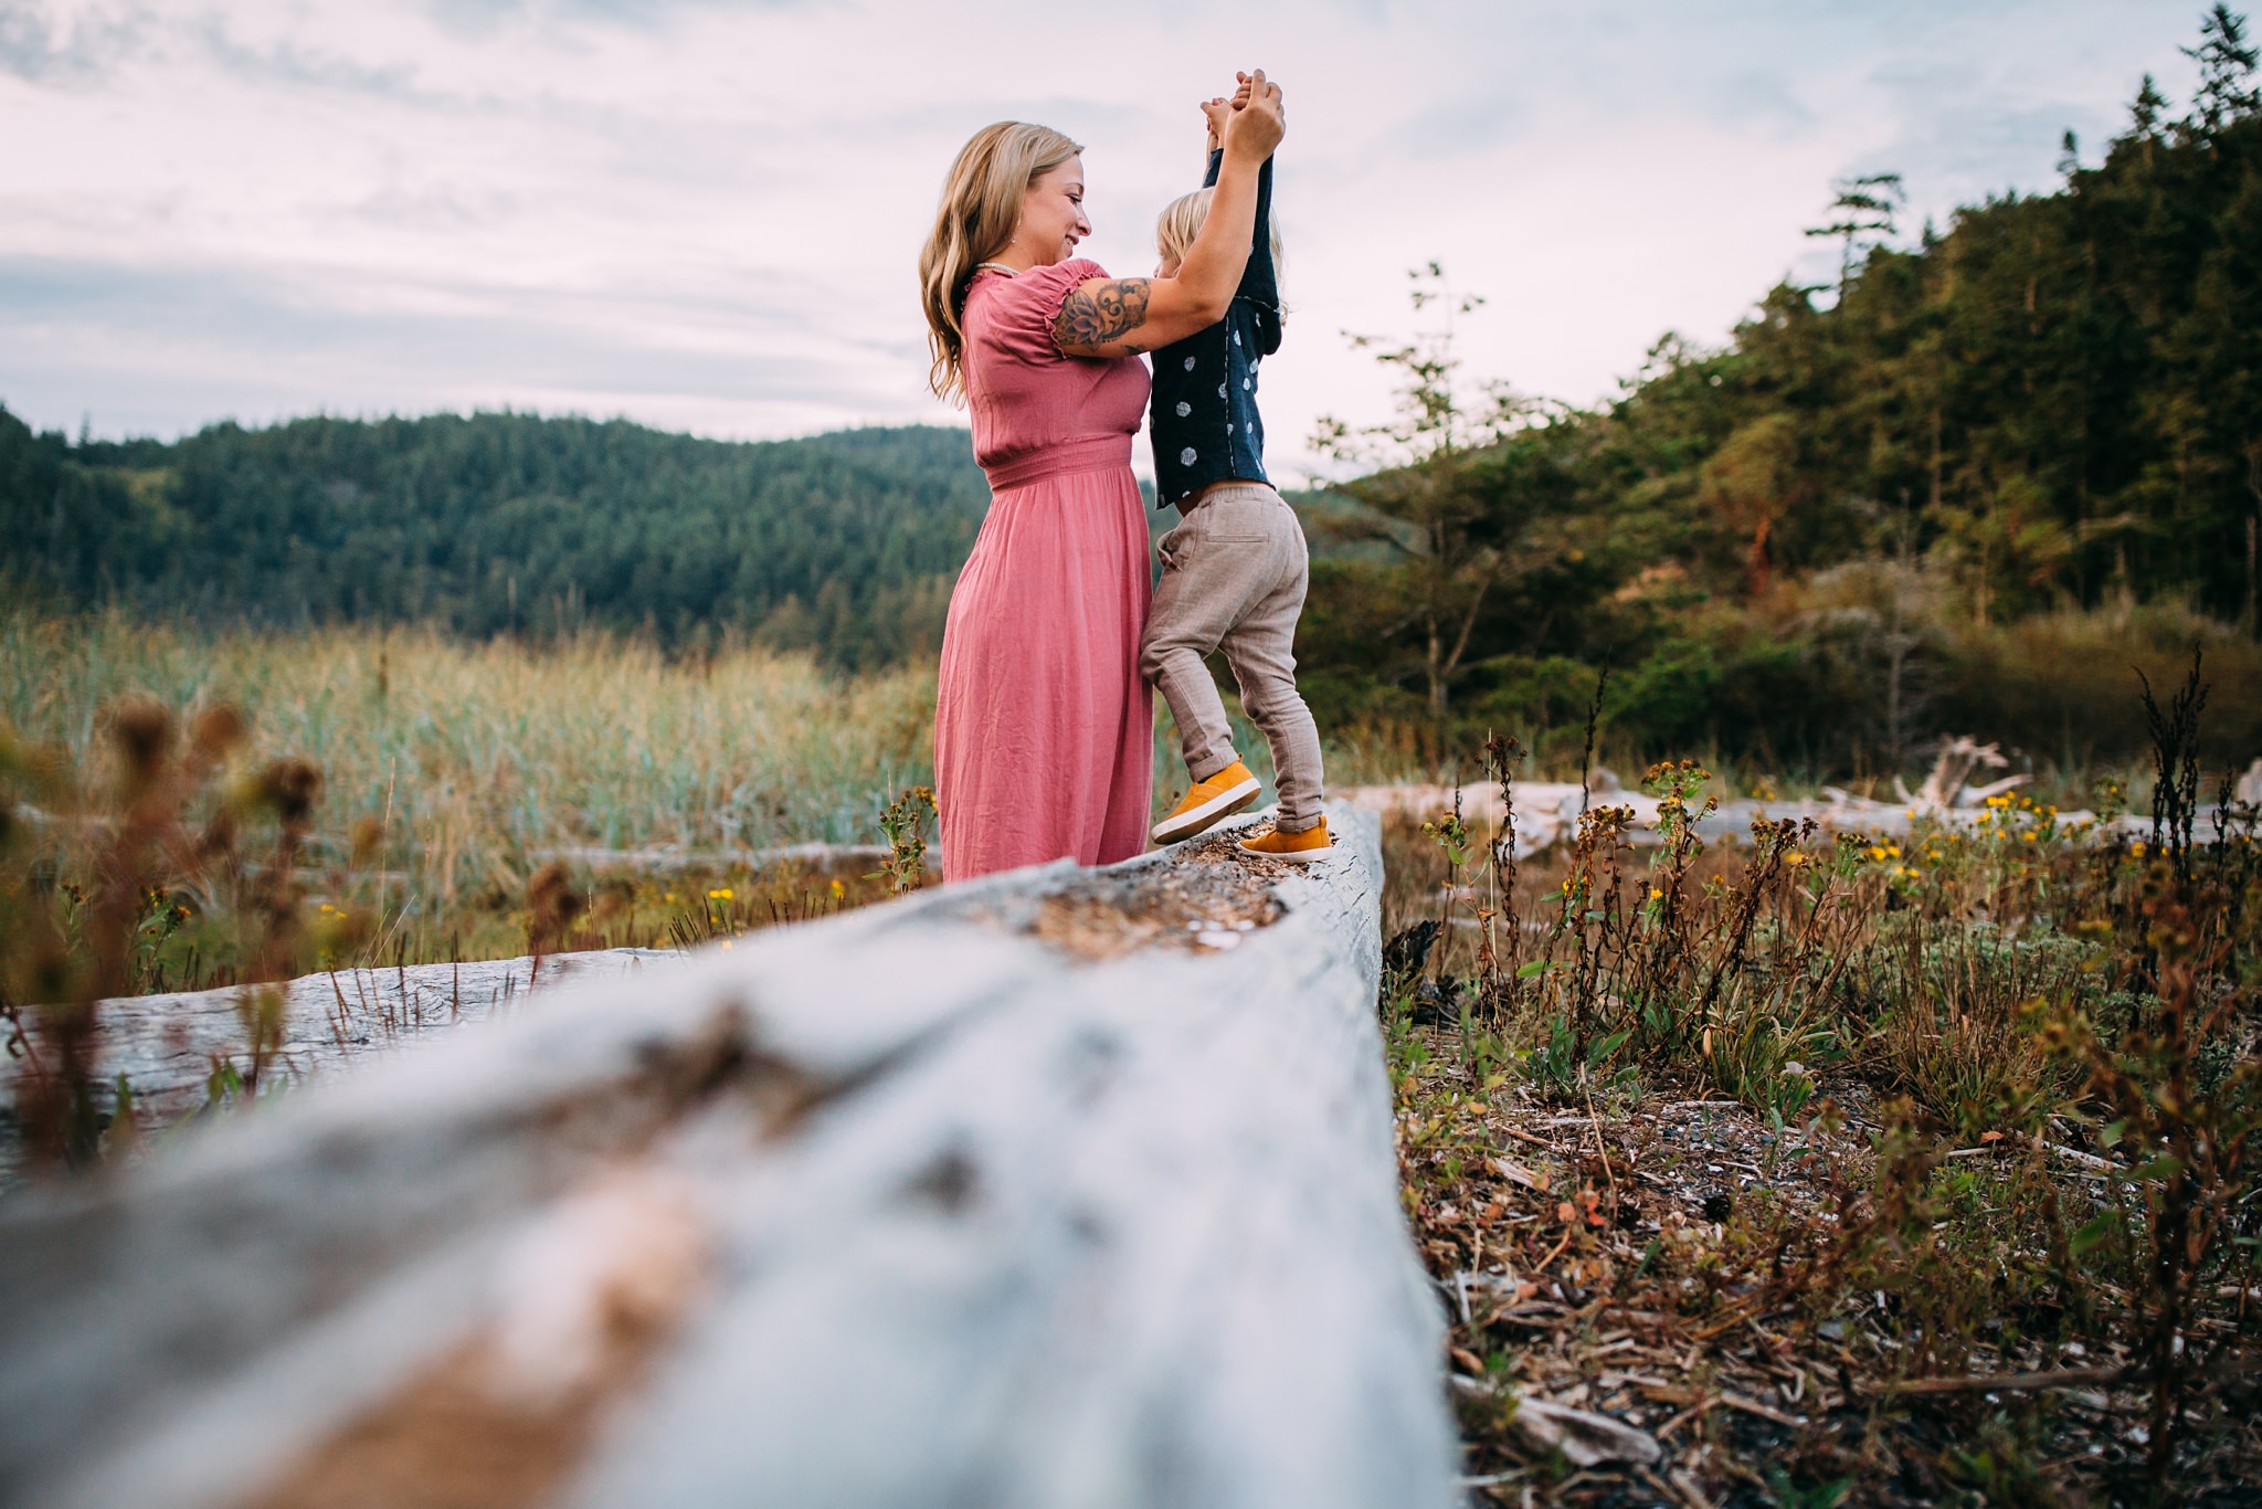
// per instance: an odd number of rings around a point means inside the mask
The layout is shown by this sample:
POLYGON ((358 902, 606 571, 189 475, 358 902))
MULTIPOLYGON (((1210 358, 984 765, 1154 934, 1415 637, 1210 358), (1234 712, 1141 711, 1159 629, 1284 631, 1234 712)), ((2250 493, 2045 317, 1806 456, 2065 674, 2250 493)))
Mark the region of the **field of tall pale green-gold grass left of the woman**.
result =
POLYGON ((516 898, 547 848, 871 842, 889 796, 934 778, 927 667, 841 679, 744 645, 199 636, 0 609, 0 726, 88 765, 100 708, 129 692, 242 708, 256 758, 323 769, 317 844, 380 819, 385 869, 437 905, 516 898))

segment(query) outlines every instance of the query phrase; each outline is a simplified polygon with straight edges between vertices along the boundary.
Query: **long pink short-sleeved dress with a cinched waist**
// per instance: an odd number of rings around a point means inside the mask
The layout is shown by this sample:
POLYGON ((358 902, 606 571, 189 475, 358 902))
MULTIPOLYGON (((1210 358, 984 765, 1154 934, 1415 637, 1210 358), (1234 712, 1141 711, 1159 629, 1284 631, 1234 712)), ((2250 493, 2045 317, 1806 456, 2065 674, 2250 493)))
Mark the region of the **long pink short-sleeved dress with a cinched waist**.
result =
POLYGON ((1138 674, 1151 575, 1131 437, 1138 357, 1065 357, 1077 258, 982 269, 966 292, 966 405, 991 507, 966 559, 934 706, 943 880, 1147 848, 1154 699, 1138 674))

